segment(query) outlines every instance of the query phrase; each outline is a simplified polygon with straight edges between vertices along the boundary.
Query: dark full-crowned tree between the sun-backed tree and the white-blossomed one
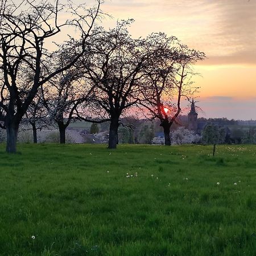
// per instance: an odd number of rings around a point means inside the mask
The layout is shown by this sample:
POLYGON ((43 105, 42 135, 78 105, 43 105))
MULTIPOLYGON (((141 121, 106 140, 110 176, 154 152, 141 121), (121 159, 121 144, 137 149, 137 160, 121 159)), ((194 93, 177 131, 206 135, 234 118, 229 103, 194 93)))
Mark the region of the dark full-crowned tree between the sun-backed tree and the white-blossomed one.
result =
POLYGON ((92 55, 81 63, 96 85, 95 109, 110 119, 108 148, 117 147, 119 118, 138 101, 141 71, 148 57, 143 40, 132 39, 127 31, 131 22, 118 22, 109 31, 101 29, 90 44, 92 55))

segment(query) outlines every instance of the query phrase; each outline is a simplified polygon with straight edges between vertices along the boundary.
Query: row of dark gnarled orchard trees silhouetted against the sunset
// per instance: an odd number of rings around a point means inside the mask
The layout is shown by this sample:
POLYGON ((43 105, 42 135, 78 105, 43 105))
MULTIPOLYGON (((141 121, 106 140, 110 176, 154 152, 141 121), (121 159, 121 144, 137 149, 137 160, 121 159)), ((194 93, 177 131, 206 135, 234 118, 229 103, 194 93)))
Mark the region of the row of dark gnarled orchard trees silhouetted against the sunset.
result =
POLYGON ((170 127, 181 113, 182 98, 190 100, 193 64, 203 52, 190 49, 174 36, 152 33, 134 39, 132 19, 105 30, 105 14, 95 5, 56 1, 2 1, 0 7, 0 127, 6 130, 7 152, 16 152, 20 122, 34 133, 42 120, 56 122, 60 143, 74 120, 109 121, 109 148, 116 148, 120 118, 134 107, 149 119, 159 119, 165 144, 170 127), (65 13, 71 18, 60 23, 65 13), (65 27, 76 38, 47 49, 65 27))

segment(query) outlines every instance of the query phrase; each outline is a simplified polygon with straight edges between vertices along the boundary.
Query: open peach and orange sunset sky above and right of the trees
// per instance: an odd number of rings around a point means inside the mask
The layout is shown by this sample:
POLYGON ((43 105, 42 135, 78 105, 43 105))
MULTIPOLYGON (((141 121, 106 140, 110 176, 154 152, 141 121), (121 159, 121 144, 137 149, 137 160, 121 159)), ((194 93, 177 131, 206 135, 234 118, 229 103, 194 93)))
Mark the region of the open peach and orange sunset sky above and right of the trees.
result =
POLYGON ((106 28, 133 18, 134 38, 161 31, 205 52, 199 116, 256 119, 256 0, 105 0, 102 10, 106 28))

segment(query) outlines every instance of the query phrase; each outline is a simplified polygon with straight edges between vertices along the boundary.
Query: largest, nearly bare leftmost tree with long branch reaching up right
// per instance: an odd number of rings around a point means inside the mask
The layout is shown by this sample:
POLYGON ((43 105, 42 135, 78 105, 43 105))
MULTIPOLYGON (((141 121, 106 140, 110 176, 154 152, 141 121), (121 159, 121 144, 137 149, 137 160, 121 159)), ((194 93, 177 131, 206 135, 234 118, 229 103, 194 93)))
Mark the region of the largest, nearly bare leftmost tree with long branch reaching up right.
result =
POLYGON ((52 5, 48 1, 24 0, 19 6, 5 0, 0 9, 0 121, 7 131, 7 152, 16 152, 16 138, 19 124, 40 86, 57 74, 72 67, 85 51, 86 40, 100 14, 100 0, 97 6, 52 5), (65 11, 75 15, 72 20, 59 23, 58 15, 65 11), (82 12, 84 11, 84 12, 82 12), (46 60, 51 57, 44 48, 65 25, 76 26, 80 32, 81 51, 64 67, 51 73, 44 73, 46 60), (86 27, 85 27, 86 26, 86 27), (31 73, 31 82, 24 84, 23 73, 31 73))

